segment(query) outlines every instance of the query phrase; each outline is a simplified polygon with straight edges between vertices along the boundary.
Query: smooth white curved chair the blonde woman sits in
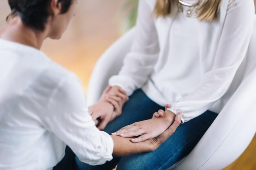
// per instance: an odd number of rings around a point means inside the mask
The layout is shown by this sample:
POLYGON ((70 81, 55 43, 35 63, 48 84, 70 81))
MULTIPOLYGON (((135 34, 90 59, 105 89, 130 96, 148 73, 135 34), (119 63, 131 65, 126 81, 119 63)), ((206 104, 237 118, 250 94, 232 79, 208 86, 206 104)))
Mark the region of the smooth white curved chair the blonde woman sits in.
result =
MULTIPOLYGON (((239 68, 242 82, 192 152, 175 170, 221 170, 247 148, 256 132, 256 18, 247 56, 239 68)), ((88 106, 96 103, 108 79, 130 51, 134 29, 117 40, 97 62, 88 86, 88 106)), ((154 111, 154 110, 152 110, 154 111)))

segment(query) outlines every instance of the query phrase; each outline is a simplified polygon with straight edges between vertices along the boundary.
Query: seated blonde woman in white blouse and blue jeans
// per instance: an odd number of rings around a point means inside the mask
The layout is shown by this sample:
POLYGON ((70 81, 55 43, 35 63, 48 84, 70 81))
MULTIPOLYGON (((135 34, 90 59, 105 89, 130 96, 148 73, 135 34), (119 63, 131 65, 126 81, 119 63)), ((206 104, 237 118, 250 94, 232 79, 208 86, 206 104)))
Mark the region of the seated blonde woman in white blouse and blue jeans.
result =
POLYGON ((253 0, 140 0, 132 49, 110 78, 108 97, 91 108, 92 117, 102 119, 104 128, 112 111, 101 115, 97 109, 116 100, 122 113, 105 131, 139 136, 134 143, 161 134, 179 112, 183 124, 154 152, 116 157, 99 167, 76 159, 78 169, 110 170, 118 163, 117 170, 165 170, 188 155, 234 90, 229 87, 245 57, 253 20, 253 0), (120 89, 127 102, 117 99, 120 89), (166 111, 165 104, 171 104, 166 111), (159 118, 150 119, 158 110, 159 118))

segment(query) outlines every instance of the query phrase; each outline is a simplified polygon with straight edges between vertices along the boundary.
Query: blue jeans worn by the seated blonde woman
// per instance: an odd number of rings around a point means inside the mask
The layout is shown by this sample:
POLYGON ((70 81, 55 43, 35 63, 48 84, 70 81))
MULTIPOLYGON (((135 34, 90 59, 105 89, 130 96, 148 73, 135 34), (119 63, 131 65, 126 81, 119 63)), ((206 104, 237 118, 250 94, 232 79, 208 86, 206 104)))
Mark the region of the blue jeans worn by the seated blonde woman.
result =
MULTIPOLYGON (((154 112, 164 109, 150 100, 143 91, 137 90, 126 104, 122 114, 110 122, 104 131, 111 134, 120 128, 136 121, 150 119, 154 112)), ((124 157, 114 157, 112 161, 100 166, 90 166, 76 157, 76 170, 112 170, 118 163, 117 170, 165 170, 188 155, 206 130, 217 117, 216 113, 207 110, 202 115, 180 124, 175 133, 157 150, 124 157)))

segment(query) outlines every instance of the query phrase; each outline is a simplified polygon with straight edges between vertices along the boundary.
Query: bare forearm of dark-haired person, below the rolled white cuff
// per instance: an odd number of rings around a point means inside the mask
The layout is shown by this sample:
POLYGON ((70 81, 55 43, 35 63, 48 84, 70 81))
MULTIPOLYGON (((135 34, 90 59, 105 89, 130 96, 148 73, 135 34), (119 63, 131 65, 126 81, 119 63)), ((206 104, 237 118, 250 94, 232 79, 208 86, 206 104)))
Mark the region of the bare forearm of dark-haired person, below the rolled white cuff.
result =
POLYGON ((132 143, 128 137, 119 137, 111 135, 114 142, 113 156, 124 156, 141 152, 150 152, 157 148, 157 143, 143 141, 132 143))

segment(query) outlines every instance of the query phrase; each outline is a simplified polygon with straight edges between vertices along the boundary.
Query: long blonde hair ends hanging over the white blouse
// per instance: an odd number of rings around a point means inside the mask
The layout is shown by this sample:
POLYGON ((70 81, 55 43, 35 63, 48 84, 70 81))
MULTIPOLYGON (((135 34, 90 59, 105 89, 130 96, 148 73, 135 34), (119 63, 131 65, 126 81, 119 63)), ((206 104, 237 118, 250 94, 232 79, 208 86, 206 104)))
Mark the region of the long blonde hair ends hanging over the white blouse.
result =
MULTIPOLYGON (((212 21, 218 18, 221 0, 204 0, 199 4, 196 13, 197 18, 201 21, 212 21)), ((173 6, 177 0, 157 0, 153 14, 156 17, 166 17, 173 11, 173 6)))

